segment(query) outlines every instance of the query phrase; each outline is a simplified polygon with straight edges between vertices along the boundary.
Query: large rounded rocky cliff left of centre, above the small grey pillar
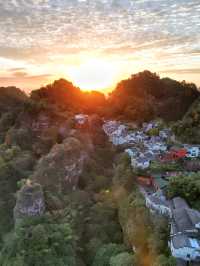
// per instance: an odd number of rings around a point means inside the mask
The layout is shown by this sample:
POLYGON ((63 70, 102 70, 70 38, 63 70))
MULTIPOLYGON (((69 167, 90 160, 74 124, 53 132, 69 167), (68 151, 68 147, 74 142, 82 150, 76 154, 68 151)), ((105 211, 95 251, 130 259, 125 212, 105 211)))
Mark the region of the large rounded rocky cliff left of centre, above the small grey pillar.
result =
POLYGON ((83 144, 74 137, 56 144, 43 156, 33 175, 33 180, 45 189, 62 192, 76 188, 88 158, 83 144))

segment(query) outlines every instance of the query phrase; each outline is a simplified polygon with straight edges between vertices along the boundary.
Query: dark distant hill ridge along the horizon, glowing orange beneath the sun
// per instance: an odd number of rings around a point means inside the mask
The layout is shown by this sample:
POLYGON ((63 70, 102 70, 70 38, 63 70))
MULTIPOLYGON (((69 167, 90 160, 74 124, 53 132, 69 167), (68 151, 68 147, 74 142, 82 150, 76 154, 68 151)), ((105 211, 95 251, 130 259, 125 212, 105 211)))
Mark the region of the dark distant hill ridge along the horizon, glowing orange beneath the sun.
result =
POLYGON ((32 91, 30 97, 14 87, 0 89, 3 109, 16 104, 19 107, 20 103, 33 108, 35 103, 43 108, 56 106, 63 112, 97 113, 107 118, 138 123, 158 117, 165 121, 182 119, 199 95, 193 83, 161 79, 148 70, 120 81, 107 98, 98 91, 83 92, 65 79, 32 91))

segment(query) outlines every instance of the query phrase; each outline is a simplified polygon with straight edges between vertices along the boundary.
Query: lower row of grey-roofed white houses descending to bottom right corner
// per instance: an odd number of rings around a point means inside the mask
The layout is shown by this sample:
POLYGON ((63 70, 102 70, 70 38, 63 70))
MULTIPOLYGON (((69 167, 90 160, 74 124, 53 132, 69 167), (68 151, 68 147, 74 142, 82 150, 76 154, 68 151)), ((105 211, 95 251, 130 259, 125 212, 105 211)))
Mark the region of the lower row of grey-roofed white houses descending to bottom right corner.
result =
POLYGON ((169 247, 172 255, 184 261, 200 261, 200 212, 180 197, 166 200, 164 195, 148 194, 140 187, 146 206, 153 213, 168 217, 169 247))

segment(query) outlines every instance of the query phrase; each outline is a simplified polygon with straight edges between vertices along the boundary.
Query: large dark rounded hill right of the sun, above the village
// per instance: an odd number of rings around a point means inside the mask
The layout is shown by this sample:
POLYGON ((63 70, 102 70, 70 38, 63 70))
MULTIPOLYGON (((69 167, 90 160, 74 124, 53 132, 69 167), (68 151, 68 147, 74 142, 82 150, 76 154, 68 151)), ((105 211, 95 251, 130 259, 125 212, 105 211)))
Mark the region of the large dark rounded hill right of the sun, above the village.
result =
POLYGON ((199 96, 194 84, 160 78, 149 71, 121 81, 109 97, 110 114, 120 119, 181 119, 199 96))

